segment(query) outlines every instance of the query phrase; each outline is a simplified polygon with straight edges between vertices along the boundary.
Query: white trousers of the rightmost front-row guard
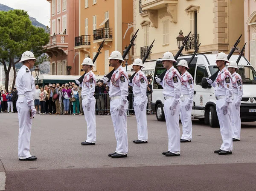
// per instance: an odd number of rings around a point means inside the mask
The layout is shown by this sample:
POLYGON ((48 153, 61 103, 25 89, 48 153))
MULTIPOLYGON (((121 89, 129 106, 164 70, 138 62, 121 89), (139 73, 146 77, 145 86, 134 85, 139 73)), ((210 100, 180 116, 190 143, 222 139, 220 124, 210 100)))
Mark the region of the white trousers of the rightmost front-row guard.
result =
POLYGON ((221 106, 224 104, 225 99, 216 100, 216 111, 218 115, 218 120, 220 123, 221 137, 222 137, 222 145, 221 150, 223 151, 232 151, 233 142, 232 142, 232 126, 231 126, 231 107, 232 103, 230 103, 227 107, 227 114, 224 115, 221 110, 221 106))

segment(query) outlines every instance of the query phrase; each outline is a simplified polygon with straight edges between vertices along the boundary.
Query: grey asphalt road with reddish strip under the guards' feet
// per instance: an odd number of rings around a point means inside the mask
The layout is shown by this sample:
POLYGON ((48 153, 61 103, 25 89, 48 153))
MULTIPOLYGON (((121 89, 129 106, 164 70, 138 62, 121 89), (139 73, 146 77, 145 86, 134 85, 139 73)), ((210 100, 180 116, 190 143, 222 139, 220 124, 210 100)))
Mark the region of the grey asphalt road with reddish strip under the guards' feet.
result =
POLYGON ((7 191, 256 190, 256 122, 242 123, 233 154, 219 156, 213 153, 221 145, 219 128, 193 120, 192 142, 181 144, 180 157, 165 157, 166 124, 147 117, 148 144, 132 143, 137 122, 129 116, 128 157, 111 159, 116 140, 110 116, 96 116, 96 145, 82 146, 84 116, 36 115, 30 151, 38 160, 28 162, 17 157, 17 114, 1 113, 0 188, 4 172, 7 191))

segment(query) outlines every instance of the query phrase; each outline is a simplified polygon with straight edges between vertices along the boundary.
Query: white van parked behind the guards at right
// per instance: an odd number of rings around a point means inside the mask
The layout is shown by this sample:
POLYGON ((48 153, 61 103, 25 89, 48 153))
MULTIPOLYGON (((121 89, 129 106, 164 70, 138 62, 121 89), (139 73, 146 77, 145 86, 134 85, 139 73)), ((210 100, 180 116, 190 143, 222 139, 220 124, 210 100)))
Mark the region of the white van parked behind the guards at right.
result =
MULTIPOLYGON (((180 56, 177 59, 184 59, 189 63, 192 55, 180 56)), ((238 55, 232 55, 230 61, 236 61, 238 55)), ((194 99, 192 107, 192 117, 204 121, 210 127, 218 127, 218 117, 216 113, 216 100, 214 95, 214 87, 208 86, 207 89, 201 87, 203 77, 209 77, 214 74, 218 68, 215 68, 216 54, 198 54, 189 65, 189 73, 194 78, 194 99)), ((145 63, 146 64, 146 63, 145 63)), ((256 71, 250 65, 245 57, 241 57, 238 64, 237 72, 241 75, 243 81, 244 95, 241 100, 240 116, 242 122, 256 121, 256 71)), ((160 63, 160 59, 156 61, 154 77, 161 74, 166 69, 160 63)), ((157 120, 164 121, 163 112, 163 87, 159 85, 155 79, 152 84, 152 103, 151 109, 156 112, 157 120)))

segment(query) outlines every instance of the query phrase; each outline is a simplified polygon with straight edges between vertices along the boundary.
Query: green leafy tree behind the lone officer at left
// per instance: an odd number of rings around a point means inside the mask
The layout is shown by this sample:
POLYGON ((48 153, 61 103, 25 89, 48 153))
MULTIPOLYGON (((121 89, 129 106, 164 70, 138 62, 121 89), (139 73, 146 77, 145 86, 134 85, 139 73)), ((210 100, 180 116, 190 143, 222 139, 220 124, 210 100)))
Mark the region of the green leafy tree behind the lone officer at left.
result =
POLYGON ((49 42, 49 34, 43 28, 32 26, 29 15, 24 10, 0 11, 0 62, 3 63, 6 75, 5 88, 8 89, 9 72, 20 62, 24 51, 32 51, 35 57, 45 52, 44 47, 49 42))

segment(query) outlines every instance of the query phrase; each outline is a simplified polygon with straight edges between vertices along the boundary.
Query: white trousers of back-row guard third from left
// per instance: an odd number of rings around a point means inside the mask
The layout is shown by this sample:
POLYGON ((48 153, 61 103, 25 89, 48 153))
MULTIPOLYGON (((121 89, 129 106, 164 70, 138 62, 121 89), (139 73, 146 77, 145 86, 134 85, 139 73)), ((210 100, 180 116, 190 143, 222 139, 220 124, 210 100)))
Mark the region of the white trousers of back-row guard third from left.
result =
POLYGON ((189 111, 186 111, 186 103, 188 97, 185 97, 184 101, 180 101, 180 120, 182 123, 182 136, 181 139, 192 140, 192 120, 191 120, 191 111, 192 104, 190 104, 189 111))

